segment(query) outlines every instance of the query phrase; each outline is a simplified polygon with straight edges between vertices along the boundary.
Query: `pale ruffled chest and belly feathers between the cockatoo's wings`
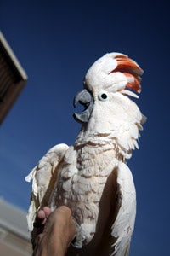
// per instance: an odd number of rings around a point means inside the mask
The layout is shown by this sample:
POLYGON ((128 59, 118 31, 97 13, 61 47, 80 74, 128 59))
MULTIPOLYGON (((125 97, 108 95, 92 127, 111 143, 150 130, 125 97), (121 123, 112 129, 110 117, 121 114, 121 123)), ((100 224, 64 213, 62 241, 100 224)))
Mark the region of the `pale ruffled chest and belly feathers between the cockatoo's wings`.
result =
POLYGON ((85 243, 94 236, 99 201, 107 177, 117 166, 116 151, 107 145, 70 147, 59 168, 52 206, 67 205, 81 230, 85 243))

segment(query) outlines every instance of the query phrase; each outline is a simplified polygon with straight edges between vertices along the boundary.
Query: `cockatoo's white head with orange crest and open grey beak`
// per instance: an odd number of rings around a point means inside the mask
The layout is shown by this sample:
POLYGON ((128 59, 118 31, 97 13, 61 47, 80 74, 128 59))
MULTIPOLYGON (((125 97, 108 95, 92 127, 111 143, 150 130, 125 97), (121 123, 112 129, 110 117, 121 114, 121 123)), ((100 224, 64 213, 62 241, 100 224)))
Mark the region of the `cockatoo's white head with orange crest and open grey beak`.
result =
MULTIPOLYGON (((84 89, 77 94, 74 105, 85 109, 74 113, 82 126, 90 125, 94 133, 126 130, 127 123, 142 123, 138 106, 128 97, 141 91, 143 70, 127 55, 109 53, 95 61, 84 79, 84 89)), ((89 129, 88 129, 89 130, 89 129)))

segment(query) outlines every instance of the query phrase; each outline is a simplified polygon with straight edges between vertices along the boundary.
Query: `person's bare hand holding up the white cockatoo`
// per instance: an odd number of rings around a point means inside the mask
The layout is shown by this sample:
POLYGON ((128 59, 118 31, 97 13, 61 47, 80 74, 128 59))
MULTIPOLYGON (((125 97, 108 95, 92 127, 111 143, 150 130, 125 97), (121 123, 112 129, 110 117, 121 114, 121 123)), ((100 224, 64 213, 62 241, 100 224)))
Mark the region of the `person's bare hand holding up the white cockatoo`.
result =
POLYGON ((44 228, 34 241, 32 256, 64 256, 76 236, 71 210, 62 206, 51 212, 48 207, 43 207, 37 212, 36 221, 38 225, 44 225, 44 228))

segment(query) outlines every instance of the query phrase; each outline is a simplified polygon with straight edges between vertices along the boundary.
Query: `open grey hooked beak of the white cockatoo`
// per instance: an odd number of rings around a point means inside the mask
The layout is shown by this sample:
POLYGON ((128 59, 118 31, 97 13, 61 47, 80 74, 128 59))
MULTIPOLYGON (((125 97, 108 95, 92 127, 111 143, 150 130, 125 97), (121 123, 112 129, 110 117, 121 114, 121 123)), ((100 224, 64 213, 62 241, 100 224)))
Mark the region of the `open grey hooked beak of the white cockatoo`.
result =
POLYGON ((74 102, 73 102, 74 107, 76 107, 77 102, 82 104, 82 106, 85 109, 84 111, 82 111, 82 113, 74 113, 73 114, 74 119, 81 124, 88 123, 88 119, 94 108, 93 96, 90 94, 88 90, 84 89, 79 93, 77 93, 77 96, 75 96, 74 102))

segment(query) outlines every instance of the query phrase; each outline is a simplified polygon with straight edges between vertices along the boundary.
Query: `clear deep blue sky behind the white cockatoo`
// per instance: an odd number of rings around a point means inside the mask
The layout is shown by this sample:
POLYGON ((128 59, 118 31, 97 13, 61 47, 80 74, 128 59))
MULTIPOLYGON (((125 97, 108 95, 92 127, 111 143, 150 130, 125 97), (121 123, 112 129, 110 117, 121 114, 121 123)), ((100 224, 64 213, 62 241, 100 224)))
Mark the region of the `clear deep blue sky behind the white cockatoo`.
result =
POLYGON ((29 80, 0 127, 0 196, 26 210, 25 177, 46 151, 71 145, 72 100, 88 67, 107 52, 144 69, 139 108, 148 117, 128 166, 137 190, 132 256, 169 252, 169 45, 167 1, 0 0, 0 30, 29 80))

